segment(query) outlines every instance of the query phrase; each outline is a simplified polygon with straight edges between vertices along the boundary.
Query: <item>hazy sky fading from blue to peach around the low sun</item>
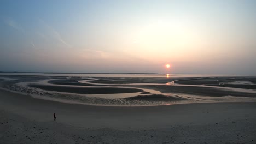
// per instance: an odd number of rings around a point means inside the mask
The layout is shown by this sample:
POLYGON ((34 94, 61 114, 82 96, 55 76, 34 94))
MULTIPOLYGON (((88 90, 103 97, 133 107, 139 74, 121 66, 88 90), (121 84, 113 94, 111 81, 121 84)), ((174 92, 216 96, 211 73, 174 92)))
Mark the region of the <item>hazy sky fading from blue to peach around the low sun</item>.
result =
POLYGON ((2 0, 0 71, 254 75, 255 8, 253 0, 2 0))

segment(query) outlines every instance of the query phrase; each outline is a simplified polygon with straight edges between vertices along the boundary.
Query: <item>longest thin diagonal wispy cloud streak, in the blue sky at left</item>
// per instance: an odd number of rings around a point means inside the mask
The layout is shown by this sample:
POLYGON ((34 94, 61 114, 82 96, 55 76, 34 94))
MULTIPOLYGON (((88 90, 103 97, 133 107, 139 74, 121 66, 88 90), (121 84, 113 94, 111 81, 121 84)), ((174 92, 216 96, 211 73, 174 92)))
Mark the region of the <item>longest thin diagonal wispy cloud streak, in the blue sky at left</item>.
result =
MULTIPOLYGON (((45 21, 43 21, 42 19, 39 19, 39 21, 47 28, 49 29, 51 36, 56 39, 57 41, 60 41, 60 43, 68 46, 68 47, 72 47, 70 44, 68 44, 65 40, 63 40, 61 34, 59 32, 57 32, 53 27, 51 27, 50 25, 48 25, 48 23, 46 23, 45 21)), ((44 35, 44 34, 40 34, 40 35, 44 35)))

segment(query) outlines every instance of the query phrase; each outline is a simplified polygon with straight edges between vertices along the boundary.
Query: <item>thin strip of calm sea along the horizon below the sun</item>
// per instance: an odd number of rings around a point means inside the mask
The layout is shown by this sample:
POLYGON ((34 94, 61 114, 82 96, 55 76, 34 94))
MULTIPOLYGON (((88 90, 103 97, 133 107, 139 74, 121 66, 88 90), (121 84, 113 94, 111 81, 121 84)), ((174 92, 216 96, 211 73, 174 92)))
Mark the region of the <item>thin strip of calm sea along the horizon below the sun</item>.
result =
POLYGON ((80 76, 80 77, 216 77, 251 75, 199 75, 199 74, 75 74, 75 73, 0 73, 0 75, 41 75, 41 76, 80 76))

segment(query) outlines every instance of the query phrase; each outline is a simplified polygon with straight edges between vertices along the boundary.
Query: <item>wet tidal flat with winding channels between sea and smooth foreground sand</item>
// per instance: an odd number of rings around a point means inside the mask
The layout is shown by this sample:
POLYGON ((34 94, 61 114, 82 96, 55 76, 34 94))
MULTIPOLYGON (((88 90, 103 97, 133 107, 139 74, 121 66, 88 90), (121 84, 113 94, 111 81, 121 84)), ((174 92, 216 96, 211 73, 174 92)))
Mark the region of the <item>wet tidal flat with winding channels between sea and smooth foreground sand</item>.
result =
POLYGON ((246 85, 254 85, 255 77, 174 77, 167 79, 164 77, 5 76, 2 79, 5 80, 1 80, 0 85, 13 92, 28 94, 34 98, 86 105, 146 106, 256 102, 254 89, 195 85, 198 82, 208 84, 228 82, 235 83, 235 85, 243 82, 246 85), (180 81, 190 82, 191 85, 177 84, 180 81))

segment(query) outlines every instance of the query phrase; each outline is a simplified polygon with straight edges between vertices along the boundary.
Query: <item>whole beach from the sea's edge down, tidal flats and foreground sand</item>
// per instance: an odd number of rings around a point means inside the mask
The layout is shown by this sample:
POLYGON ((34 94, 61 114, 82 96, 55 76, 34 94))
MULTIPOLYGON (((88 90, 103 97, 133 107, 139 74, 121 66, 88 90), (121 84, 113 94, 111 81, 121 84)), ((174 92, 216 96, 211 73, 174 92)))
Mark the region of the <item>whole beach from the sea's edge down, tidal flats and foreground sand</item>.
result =
POLYGON ((0 143, 256 143, 254 77, 1 79, 0 143))

